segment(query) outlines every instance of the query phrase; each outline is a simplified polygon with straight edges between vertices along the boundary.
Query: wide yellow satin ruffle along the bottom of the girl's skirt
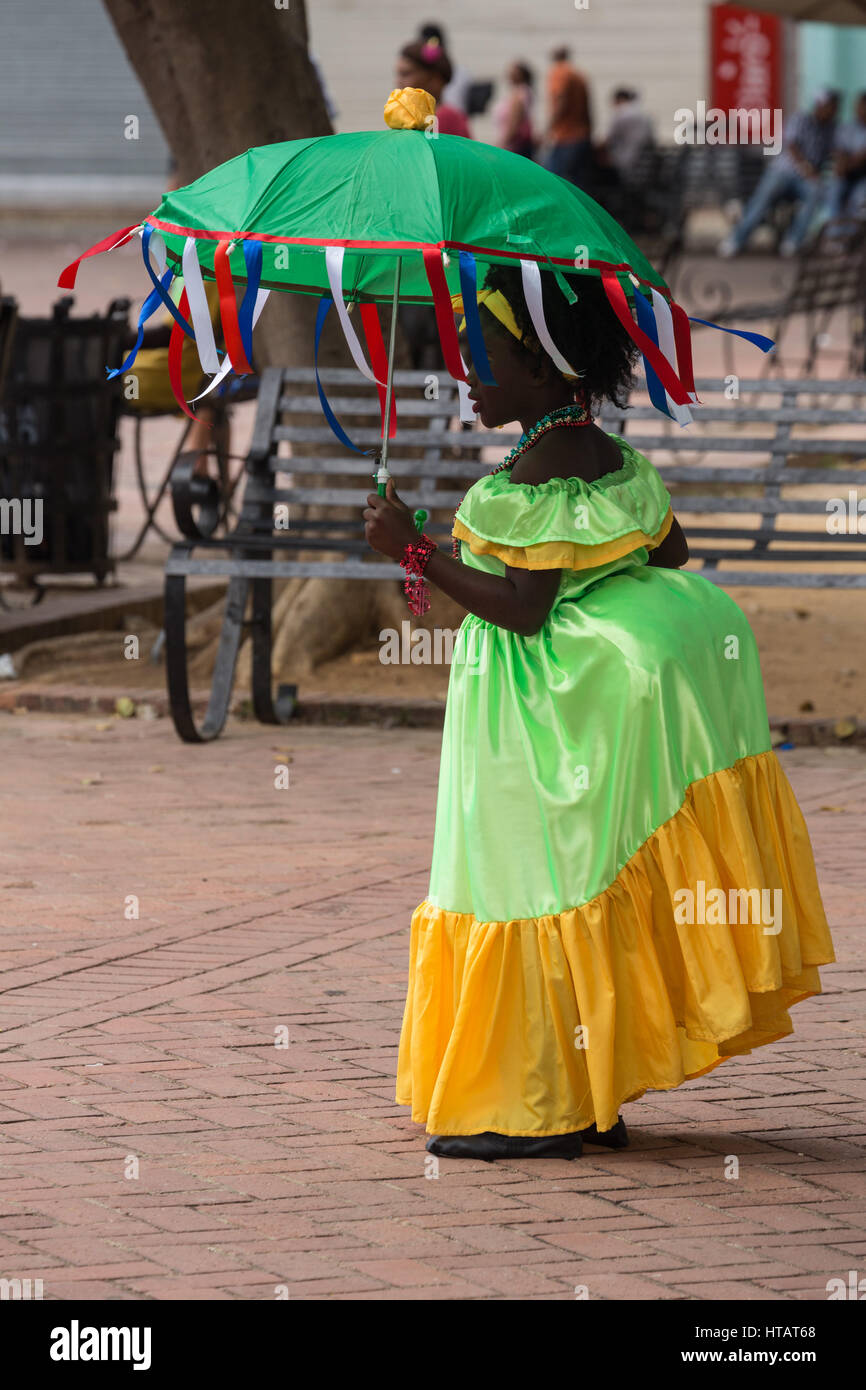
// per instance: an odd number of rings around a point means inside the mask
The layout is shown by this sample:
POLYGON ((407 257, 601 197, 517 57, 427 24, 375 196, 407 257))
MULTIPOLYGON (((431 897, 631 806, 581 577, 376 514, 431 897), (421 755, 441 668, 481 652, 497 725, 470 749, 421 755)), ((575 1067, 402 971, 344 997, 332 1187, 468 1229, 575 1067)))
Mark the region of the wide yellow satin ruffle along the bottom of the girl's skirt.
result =
POLYGON ((431 1134, 610 1129, 624 1101, 787 1037, 788 1009, 822 992, 816 967, 831 960, 785 773, 773 752, 744 758, 694 783, 581 908, 478 922, 421 902, 396 1101, 431 1134), (699 881, 781 890, 781 931, 677 923, 674 894, 699 881))

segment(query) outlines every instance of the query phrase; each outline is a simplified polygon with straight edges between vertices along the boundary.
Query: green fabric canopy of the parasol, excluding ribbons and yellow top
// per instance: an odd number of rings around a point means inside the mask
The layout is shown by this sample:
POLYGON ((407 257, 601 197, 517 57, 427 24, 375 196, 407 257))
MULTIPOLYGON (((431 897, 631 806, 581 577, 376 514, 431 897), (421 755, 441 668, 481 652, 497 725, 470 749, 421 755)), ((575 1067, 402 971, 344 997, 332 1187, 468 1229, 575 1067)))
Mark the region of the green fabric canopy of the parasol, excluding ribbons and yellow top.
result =
MULTIPOLYGON (((261 285, 304 295, 329 293, 325 246, 345 247, 348 296, 388 303, 396 257, 400 299, 431 302, 423 261, 430 247, 512 264, 530 256, 563 270, 582 260, 664 288, 587 193, 523 154, 461 135, 357 131, 265 145, 165 193, 146 221, 175 263, 195 236, 204 274, 213 274, 220 240, 253 236, 265 252, 261 285)), ((456 256, 446 279, 457 293, 456 256)))

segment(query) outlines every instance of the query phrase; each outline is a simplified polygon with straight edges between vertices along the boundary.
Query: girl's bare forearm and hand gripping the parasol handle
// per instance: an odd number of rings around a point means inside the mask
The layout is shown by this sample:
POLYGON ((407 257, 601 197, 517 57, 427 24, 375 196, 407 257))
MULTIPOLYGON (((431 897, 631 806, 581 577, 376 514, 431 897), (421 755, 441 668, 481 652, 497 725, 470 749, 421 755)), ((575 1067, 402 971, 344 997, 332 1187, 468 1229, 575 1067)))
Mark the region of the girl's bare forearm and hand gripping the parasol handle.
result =
MULTIPOLYGON (((411 512, 398 498, 393 480, 389 480, 384 498, 377 492, 368 493, 364 531, 373 549, 392 560, 400 560, 407 543, 418 539, 411 512)), ((556 598, 560 574, 562 570, 517 570, 510 566, 502 577, 487 574, 443 550, 431 555, 424 569, 425 580, 475 617, 520 637, 531 637, 544 624, 556 598)))

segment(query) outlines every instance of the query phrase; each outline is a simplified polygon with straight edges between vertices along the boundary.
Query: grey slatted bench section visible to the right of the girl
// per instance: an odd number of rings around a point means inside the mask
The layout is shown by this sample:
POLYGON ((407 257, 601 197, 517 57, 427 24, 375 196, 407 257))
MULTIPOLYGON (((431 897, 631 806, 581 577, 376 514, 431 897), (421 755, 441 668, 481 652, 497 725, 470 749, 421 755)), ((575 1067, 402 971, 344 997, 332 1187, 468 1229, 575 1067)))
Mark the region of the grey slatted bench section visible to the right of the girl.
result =
POLYGON ((738 400, 699 379, 696 392, 706 404, 685 430, 642 403, 605 407, 602 425, 659 468, 701 573, 724 587, 866 588, 866 379, 741 381, 738 400), (833 499, 845 534, 828 527, 833 499))

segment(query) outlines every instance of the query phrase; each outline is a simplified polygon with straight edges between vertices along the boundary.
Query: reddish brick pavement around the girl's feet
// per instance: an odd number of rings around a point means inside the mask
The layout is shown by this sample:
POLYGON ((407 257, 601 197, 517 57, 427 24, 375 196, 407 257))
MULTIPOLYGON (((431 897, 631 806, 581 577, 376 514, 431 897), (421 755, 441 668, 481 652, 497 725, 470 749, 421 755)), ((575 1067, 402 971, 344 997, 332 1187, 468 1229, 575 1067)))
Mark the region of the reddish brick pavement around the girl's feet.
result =
POLYGON ((627 1106, 626 1152, 438 1177, 393 1104, 438 733, 235 723, 190 748, 167 720, 0 714, 0 756, 1 1276, 823 1300, 863 1269, 866 755, 781 755, 840 958, 791 1038, 627 1106))

